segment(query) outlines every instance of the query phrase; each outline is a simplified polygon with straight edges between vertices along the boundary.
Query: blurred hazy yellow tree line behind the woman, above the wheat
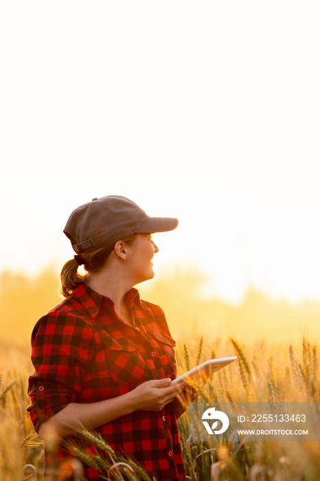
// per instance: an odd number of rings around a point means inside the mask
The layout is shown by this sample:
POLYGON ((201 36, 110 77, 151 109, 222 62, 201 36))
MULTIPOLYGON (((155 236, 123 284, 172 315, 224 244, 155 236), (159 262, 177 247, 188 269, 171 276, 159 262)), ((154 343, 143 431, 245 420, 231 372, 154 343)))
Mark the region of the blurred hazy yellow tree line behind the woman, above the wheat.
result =
MULTIPOLYGON (((176 267, 152 281, 139 284, 141 298, 159 304, 176 339, 186 335, 232 336, 270 341, 317 336, 320 302, 271 300, 253 287, 238 304, 202 295, 206 276, 196 268, 176 267)), ((57 269, 52 266, 31 278, 25 273, 0 274, 0 335, 14 335, 29 342, 32 327, 41 315, 62 301, 57 269)))

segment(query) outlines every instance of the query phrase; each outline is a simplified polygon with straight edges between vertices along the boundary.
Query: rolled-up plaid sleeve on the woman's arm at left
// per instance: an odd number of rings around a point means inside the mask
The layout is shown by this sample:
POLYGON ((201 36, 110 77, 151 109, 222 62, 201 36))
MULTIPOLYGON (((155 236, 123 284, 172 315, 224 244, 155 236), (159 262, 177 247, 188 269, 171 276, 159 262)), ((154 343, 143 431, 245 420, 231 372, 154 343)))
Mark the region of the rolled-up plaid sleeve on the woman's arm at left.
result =
POLYGON ((76 402, 85 366, 93 357, 93 331, 81 317, 51 311, 41 317, 32 333, 32 363, 27 407, 34 429, 76 402))

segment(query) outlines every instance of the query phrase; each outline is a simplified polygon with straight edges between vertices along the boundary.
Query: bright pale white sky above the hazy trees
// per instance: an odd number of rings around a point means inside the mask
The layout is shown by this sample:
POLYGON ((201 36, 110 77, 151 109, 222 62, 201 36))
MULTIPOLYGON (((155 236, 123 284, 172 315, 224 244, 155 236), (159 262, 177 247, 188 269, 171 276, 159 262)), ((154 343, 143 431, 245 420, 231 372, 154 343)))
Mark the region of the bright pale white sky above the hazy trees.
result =
POLYGON ((0 7, 0 270, 73 251, 109 194, 176 216, 155 269, 207 293, 320 298, 319 3, 10 1, 0 7))

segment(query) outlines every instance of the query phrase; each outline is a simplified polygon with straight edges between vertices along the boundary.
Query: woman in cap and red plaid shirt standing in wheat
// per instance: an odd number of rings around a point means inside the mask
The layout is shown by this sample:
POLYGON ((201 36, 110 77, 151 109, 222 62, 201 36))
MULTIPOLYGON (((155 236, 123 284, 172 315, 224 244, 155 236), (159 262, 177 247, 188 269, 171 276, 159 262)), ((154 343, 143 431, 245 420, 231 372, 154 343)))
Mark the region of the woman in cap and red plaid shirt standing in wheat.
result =
MULTIPOLYGON (((72 212, 64 232, 76 256, 60 276, 66 299, 34 327, 29 380, 28 411, 45 444, 86 426, 163 481, 185 480, 176 425, 185 385, 170 385, 175 342, 163 311, 133 286, 154 276, 151 233, 177 225, 121 196, 72 212)), ((58 445, 46 465, 67 456, 58 445)), ((84 467, 84 477, 99 473, 84 467)))

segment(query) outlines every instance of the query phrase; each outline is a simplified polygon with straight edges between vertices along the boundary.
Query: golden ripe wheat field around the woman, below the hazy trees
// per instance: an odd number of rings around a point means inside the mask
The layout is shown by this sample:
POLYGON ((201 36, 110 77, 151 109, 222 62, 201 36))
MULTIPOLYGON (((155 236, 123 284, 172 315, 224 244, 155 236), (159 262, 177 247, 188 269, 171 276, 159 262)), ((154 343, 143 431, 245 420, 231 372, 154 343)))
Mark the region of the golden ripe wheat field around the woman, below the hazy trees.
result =
MULTIPOLYGON (((318 346, 305 337, 297 346, 275 350, 265 342, 240 346, 234 339, 217 340, 214 348, 202 339, 179 342, 179 372, 211 357, 237 355, 233 363, 218 371, 202 390, 203 401, 319 401, 318 346)), ((0 479, 31 481, 42 478, 43 449, 25 412, 30 348, 18 342, 1 342, 1 441, 0 479), (4 368, 4 366, 9 366, 4 368)), ((187 414, 179 420, 185 469, 188 478, 206 480, 302 481, 320 479, 320 443, 222 441, 206 445, 187 434, 187 414)), ((88 435, 88 434, 87 434, 88 435)), ((84 435, 85 436, 85 435, 84 435)), ((77 454, 77 453, 76 453, 77 454)), ((93 462, 81 457, 82 462, 93 462)), ((111 470, 106 479, 148 479, 137 467, 123 462, 120 473, 111 470), (118 476, 118 477, 117 477, 118 476)), ((100 465, 106 460, 100 460, 100 465)), ((107 468, 105 468, 106 476, 107 468)))

